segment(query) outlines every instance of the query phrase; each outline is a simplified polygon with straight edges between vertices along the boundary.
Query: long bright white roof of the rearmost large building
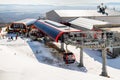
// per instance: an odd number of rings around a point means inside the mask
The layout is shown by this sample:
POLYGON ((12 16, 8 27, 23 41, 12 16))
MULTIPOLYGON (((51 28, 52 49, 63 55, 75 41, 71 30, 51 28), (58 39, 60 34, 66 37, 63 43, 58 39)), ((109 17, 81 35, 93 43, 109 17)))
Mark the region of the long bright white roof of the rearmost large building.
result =
MULTIPOLYGON (((55 10, 60 17, 90 17, 90 16, 107 16, 99 13, 97 10, 55 10)), ((108 16, 120 16, 120 12, 115 10, 106 10, 108 16)))

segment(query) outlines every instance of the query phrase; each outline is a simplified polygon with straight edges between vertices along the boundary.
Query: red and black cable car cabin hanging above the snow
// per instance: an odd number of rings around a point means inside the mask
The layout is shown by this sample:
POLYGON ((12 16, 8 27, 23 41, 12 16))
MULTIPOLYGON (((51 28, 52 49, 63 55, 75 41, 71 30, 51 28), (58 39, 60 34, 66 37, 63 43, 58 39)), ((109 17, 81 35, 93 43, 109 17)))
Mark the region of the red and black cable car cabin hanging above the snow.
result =
POLYGON ((66 64, 75 62, 75 55, 72 52, 64 53, 63 60, 66 64))

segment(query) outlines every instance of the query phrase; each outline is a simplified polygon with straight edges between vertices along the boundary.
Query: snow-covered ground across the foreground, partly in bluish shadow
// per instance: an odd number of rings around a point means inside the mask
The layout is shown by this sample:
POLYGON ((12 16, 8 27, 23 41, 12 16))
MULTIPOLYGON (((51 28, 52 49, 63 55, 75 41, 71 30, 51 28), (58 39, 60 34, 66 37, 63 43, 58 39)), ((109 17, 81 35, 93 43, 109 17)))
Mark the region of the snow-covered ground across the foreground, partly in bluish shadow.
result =
MULTIPOLYGON (((79 49, 68 46, 79 62, 79 49)), ((120 57, 107 60, 110 78, 99 76, 102 58, 99 51, 84 49, 84 68, 66 65, 44 44, 18 37, 0 39, 0 80, 119 80, 120 57)))

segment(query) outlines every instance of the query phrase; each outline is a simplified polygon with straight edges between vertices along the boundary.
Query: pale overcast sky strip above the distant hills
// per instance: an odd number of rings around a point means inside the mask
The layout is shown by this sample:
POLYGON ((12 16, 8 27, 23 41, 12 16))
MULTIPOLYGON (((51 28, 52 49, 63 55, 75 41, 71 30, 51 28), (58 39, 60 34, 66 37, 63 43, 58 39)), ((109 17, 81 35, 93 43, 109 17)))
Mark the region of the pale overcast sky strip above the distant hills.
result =
POLYGON ((0 0, 0 4, 79 5, 86 3, 120 2, 120 0, 0 0))

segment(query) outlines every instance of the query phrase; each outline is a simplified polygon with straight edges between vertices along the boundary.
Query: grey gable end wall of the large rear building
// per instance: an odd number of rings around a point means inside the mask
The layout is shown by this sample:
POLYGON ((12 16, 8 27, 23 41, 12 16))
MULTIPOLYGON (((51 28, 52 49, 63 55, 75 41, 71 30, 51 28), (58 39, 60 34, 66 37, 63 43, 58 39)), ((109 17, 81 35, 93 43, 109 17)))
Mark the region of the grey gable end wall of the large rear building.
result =
POLYGON ((61 17, 54 10, 46 13, 46 19, 56 21, 56 22, 62 21, 61 17))

